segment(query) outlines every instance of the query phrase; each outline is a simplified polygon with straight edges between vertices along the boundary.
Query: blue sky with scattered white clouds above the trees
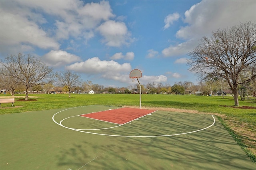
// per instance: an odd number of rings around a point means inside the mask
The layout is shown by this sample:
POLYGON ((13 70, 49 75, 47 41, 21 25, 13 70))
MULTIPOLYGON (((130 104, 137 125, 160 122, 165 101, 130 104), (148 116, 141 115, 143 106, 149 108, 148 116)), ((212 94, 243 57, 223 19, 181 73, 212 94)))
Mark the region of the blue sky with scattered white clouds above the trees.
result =
POLYGON ((187 53, 203 36, 256 22, 256 1, 0 1, 0 57, 20 51, 105 87, 174 85, 197 77, 187 53))

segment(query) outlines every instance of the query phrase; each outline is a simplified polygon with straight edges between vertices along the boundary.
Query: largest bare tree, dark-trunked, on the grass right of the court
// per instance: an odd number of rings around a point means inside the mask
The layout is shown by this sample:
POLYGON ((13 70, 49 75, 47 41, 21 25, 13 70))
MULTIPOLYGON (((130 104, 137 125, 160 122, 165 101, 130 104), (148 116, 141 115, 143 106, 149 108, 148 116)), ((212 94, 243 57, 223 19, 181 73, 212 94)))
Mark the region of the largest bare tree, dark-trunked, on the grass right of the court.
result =
POLYGON ((256 79, 256 24, 246 22, 230 29, 217 30, 212 38, 204 36, 188 53, 188 65, 201 80, 225 79, 239 106, 238 85, 256 79), (252 74, 241 79, 243 72, 252 74))

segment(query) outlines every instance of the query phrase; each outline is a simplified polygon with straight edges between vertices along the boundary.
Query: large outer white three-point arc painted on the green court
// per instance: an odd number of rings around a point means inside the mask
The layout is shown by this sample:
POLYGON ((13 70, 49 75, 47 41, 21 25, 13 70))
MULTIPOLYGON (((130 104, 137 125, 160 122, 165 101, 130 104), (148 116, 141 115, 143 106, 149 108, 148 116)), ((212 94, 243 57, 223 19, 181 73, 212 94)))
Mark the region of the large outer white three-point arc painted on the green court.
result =
MULTIPOLYGON (((74 109, 74 108, 78 108, 78 107, 73 107, 73 108, 69 108, 69 109, 74 109)), ((65 109, 65 110, 63 110, 63 111, 66 111, 66 110, 68 110, 68 109, 65 109)), ((214 116, 211 115, 212 118, 213 118, 213 120, 214 120, 213 123, 212 123, 212 125, 210 125, 210 126, 208 126, 208 127, 206 127, 206 128, 199 129, 199 130, 194 130, 194 131, 191 131, 191 132, 185 132, 185 133, 179 133, 179 134, 152 135, 152 136, 128 136, 128 135, 114 135, 114 134, 93 133, 93 132, 86 132, 86 131, 78 130, 78 129, 75 129, 75 128, 65 127, 65 126, 62 125, 61 123, 57 123, 57 122, 54 120, 54 116, 57 115, 57 114, 60 113, 60 112, 62 112, 62 111, 59 111, 59 112, 55 113, 55 114, 52 116, 52 120, 53 120, 56 124, 58 124, 58 125, 60 125, 60 126, 62 126, 62 127, 64 127, 64 128, 68 128, 68 129, 70 129, 70 130, 75 130, 75 131, 83 132, 83 133, 98 134, 98 135, 103 135, 103 136, 116 136, 116 137, 163 137, 163 136, 177 136, 177 135, 189 134, 189 133, 194 133, 194 132, 199 132, 199 131, 201 131, 201 130, 205 130, 205 129, 207 129, 207 128, 212 127, 212 126, 215 124, 215 122, 216 122, 216 120, 214 119, 214 116)), ((73 116, 73 117, 74 117, 74 116, 73 116)), ((66 119, 68 119, 68 118, 66 118, 66 119)), ((138 119, 138 118, 137 118, 137 119, 138 119)), ((64 120, 64 119, 63 119, 63 120, 64 120)), ((62 120, 62 121, 63 121, 63 120, 62 120)), ((136 120, 136 119, 135 119, 135 120, 136 120)), ((130 122, 131 122, 131 121, 130 121, 130 122)), ((128 123, 129 123, 129 122, 128 122, 128 123)), ((126 124, 126 123, 125 123, 125 124, 126 124)), ((122 125, 125 125, 125 124, 122 124, 122 125)), ((119 125, 119 126, 121 126, 121 125, 119 125)), ((118 126, 117 126, 117 127, 118 127, 118 126)))

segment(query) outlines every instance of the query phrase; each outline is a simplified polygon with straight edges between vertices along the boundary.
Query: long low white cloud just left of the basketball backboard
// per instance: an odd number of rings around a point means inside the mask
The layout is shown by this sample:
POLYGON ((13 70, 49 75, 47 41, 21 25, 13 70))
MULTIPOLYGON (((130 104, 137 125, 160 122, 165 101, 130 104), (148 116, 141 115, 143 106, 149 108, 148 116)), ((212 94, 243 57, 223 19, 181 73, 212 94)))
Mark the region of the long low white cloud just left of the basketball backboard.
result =
POLYGON ((98 57, 87 59, 86 61, 77 62, 72 65, 66 66, 66 69, 85 73, 88 75, 98 75, 105 79, 123 80, 126 81, 127 77, 123 77, 123 73, 131 71, 130 63, 119 64, 116 61, 100 60, 98 57))

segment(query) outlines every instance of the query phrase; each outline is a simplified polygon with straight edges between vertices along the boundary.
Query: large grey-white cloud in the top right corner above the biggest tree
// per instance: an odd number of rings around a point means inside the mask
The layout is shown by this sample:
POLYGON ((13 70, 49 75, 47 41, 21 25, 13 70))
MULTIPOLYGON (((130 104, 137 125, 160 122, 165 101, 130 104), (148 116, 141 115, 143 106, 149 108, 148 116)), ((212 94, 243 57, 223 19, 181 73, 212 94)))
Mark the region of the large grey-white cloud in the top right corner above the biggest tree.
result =
POLYGON ((240 25, 241 22, 256 22, 256 1, 201 1, 185 12, 184 23, 178 30, 177 38, 183 42, 171 44, 162 50, 166 57, 186 55, 199 43, 203 36, 211 36, 212 31, 240 25))

